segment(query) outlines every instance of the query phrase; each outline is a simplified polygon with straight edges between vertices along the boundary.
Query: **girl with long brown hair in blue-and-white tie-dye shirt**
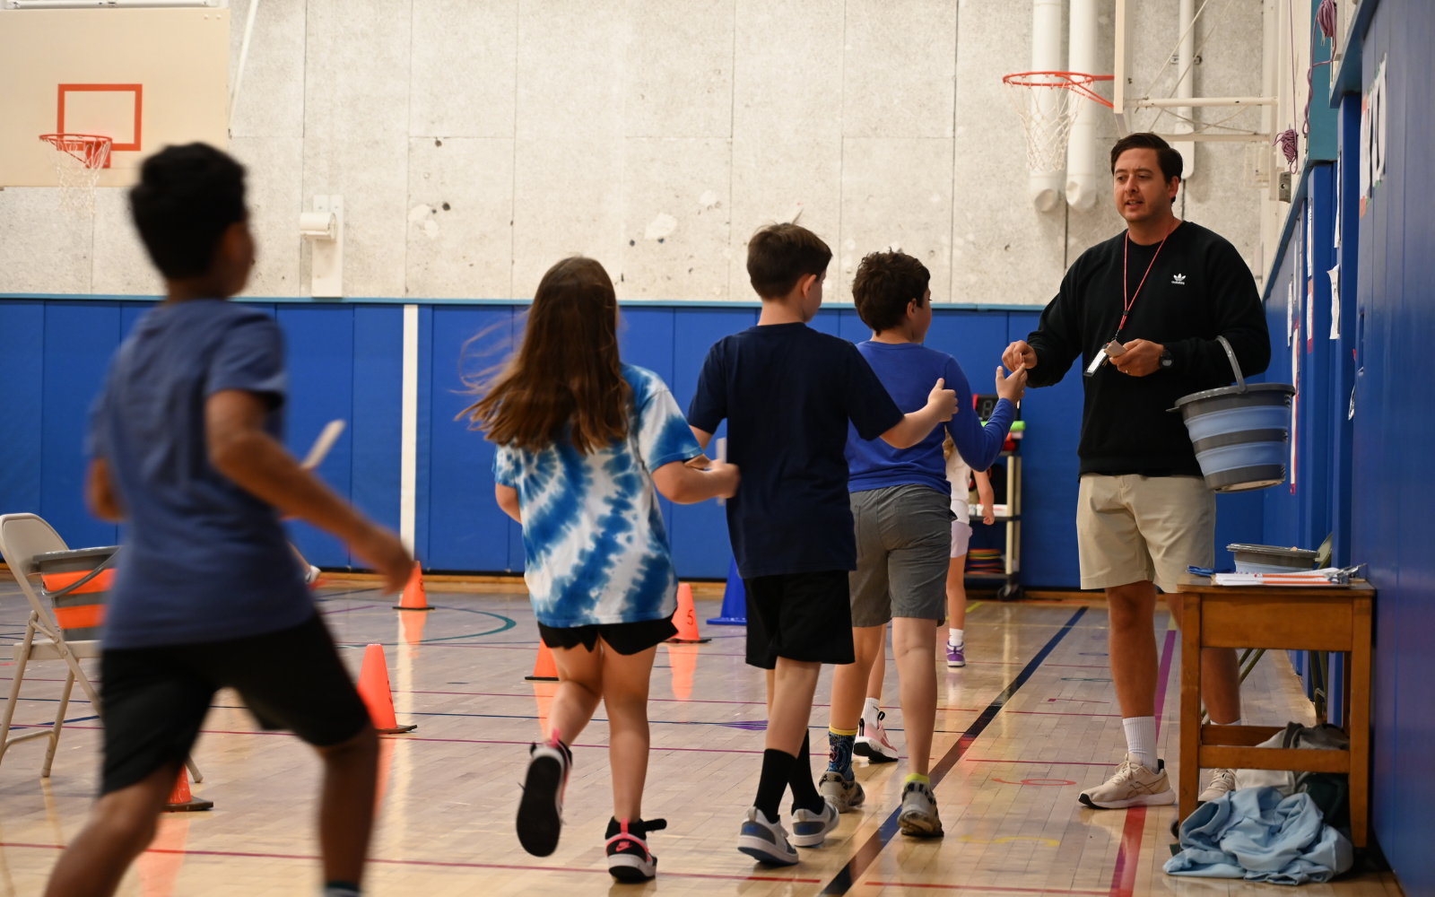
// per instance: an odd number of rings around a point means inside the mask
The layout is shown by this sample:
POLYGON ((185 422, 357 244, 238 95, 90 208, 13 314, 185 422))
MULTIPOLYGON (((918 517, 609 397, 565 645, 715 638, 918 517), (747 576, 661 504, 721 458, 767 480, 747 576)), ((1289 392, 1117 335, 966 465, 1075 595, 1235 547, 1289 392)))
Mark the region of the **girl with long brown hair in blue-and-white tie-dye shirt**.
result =
POLYGON ((601 699, 608 713, 613 819, 608 870, 656 874, 643 821, 647 683, 676 634, 677 573, 657 492, 679 504, 730 497, 738 469, 709 462, 651 370, 618 359, 617 297, 591 258, 544 274, 522 346, 469 415, 498 443, 495 498, 524 528, 524 578, 558 667, 544 743, 530 752, 518 840, 558 845, 568 743, 601 699), (656 489, 656 491, 654 491, 656 489))

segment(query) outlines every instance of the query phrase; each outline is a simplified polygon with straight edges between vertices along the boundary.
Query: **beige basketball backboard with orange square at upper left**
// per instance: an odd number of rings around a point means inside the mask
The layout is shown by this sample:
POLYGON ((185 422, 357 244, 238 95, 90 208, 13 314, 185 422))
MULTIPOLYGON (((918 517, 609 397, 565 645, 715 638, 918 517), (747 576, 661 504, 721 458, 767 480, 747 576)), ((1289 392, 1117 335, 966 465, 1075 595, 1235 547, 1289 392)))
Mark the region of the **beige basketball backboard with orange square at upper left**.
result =
POLYGON ((0 11, 0 187, 55 187, 42 133, 110 138, 100 187, 169 144, 228 148, 230 10, 0 11))

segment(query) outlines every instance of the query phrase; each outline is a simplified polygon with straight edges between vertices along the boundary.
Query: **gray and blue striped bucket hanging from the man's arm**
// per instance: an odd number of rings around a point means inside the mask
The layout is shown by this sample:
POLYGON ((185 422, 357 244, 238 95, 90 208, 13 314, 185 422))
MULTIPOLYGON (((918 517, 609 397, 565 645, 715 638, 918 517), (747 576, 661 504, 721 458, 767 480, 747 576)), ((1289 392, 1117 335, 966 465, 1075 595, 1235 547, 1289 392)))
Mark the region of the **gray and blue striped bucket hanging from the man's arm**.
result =
POLYGON ((1171 409, 1185 421, 1205 485, 1217 492, 1244 492, 1284 482, 1296 388, 1247 383, 1231 344, 1224 336, 1215 339, 1231 360, 1236 386, 1192 392, 1171 409))

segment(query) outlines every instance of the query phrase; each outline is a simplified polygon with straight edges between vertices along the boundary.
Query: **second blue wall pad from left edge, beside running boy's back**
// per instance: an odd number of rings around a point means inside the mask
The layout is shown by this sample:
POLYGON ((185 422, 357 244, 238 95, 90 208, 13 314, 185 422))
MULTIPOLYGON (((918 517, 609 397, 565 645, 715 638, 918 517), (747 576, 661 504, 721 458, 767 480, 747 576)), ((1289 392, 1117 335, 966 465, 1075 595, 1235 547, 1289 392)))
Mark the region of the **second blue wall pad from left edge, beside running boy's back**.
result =
POLYGON ((89 409, 119 346, 119 303, 46 303, 39 514, 72 548, 119 541, 115 524, 90 517, 83 492, 89 409))

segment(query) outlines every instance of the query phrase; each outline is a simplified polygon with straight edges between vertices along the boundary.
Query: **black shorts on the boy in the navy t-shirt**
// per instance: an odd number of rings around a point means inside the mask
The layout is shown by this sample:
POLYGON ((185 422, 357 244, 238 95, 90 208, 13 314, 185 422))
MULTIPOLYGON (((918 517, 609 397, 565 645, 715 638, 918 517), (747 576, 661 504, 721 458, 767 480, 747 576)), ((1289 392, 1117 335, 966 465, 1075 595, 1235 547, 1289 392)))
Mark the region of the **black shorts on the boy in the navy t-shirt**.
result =
POLYGON ((845 570, 743 580, 748 663, 771 670, 778 657, 852 663, 852 603, 845 570))

